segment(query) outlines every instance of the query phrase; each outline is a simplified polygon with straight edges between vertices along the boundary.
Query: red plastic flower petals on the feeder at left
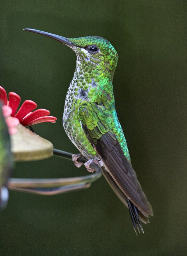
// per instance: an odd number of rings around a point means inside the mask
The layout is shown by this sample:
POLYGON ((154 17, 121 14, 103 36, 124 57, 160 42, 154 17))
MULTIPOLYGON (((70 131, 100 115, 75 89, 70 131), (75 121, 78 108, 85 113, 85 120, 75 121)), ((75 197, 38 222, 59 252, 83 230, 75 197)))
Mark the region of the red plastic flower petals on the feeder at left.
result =
POLYGON ((49 110, 40 108, 33 112, 35 108, 37 108, 37 104, 32 100, 25 100, 19 110, 19 103, 21 98, 15 92, 9 92, 9 101, 7 98, 6 91, 2 86, 0 86, 0 100, 3 102, 4 105, 11 107, 12 113, 11 116, 16 117, 19 119, 19 122, 24 126, 30 126, 34 124, 39 124, 43 122, 50 122, 55 123, 56 117, 49 116, 49 110), (17 111, 17 113, 16 113, 17 111))

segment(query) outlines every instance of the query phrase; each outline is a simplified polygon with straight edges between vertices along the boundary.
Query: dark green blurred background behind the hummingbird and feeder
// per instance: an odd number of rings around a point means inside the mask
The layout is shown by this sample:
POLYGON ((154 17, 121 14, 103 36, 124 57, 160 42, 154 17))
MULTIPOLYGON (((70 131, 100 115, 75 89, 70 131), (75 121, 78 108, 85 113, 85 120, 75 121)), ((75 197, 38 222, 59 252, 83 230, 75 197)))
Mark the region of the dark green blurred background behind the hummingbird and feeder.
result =
MULTIPOLYGON (((102 36, 116 48, 116 109, 154 212, 145 234, 136 237, 128 210, 103 177, 64 195, 10 191, 0 221, 1 255, 186 255, 186 7, 172 0, 1 1, 0 84, 58 118, 34 127, 55 148, 78 152, 62 126, 76 56, 22 29, 102 36)), ((86 173, 52 157, 16 163, 13 177, 86 173)))

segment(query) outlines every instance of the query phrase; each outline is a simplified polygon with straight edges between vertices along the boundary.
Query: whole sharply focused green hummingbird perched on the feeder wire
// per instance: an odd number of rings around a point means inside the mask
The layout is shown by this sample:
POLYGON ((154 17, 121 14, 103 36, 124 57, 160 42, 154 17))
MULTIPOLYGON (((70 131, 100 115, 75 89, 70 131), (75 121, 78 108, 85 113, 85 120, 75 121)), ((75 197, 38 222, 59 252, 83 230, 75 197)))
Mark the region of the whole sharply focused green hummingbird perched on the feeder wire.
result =
MULTIPOLYGON (((129 208, 135 232, 143 233, 141 221, 149 222, 152 207, 137 180, 113 92, 113 77, 118 54, 108 40, 100 36, 66 38, 41 30, 24 30, 48 36, 69 46, 77 55, 76 69, 65 99, 63 125, 81 156, 101 166, 116 195, 129 208)), ((77 167, 80 155, 74 155, 77 167)))

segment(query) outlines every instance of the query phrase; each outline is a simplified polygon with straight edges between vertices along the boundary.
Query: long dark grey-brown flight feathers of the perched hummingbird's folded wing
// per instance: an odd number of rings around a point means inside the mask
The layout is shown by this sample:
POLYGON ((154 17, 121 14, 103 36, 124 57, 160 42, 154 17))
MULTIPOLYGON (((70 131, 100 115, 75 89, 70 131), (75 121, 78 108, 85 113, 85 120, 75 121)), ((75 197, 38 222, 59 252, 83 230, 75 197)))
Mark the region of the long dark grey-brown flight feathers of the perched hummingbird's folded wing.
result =
POLYGON ((107 132, 93 145, 107 171, 129 200, 146 217, 153 215, 151 205, 142 191, 131 163, 124 156, 116 136, 107 132))

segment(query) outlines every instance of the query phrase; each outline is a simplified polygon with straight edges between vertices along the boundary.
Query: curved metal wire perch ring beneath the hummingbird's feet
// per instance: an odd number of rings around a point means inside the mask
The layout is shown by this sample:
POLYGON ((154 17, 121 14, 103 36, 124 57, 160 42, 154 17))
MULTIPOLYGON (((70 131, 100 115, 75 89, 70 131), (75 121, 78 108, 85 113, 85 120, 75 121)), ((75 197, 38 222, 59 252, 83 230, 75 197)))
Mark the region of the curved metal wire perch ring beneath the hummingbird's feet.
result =
MULTIPOLYGON (((54 149, 54 156, 60 156, 72 160, 72 154, 62 150, 54 149)), ((85 163, 85 158, 79 157, 78 161, 85 163)), ((38 195, 56 195, 89 188, 95 180, 102 176, 102 169, 99 165, 92 163, 92 168, 96 171, 92 174, 59 179, 19 179, 11 178, 8 180, 8 189, 28 192, 38 195)))

